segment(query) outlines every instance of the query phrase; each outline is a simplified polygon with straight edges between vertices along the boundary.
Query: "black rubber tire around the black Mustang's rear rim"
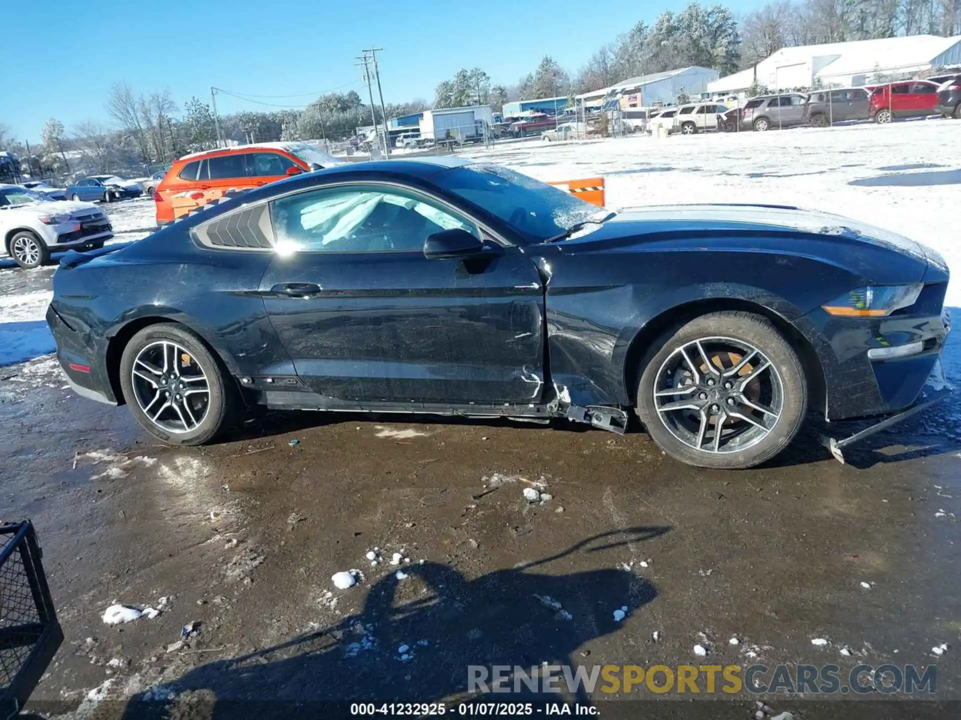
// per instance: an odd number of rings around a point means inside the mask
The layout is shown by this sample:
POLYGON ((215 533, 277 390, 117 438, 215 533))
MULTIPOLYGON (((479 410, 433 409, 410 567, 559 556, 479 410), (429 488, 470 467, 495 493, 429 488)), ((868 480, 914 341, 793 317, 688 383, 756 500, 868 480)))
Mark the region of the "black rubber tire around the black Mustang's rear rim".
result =
MULTIPOLYGON (((183 355, 178 356, 176 351, 174 356, 183 357, 183 355)), ((177 370, 170 373, 171 379, 178 377, 182 370, 183 368, 178 367, 177 370)), ((160 382, 160 379, 158 381, 160 382)), ((167 385, 167 382, 164 379, 164 385, 172 388, 173 386, 167 385)), ((214 440, 234 422, 240 420, 237 413, 240 411, 241 403, 234 378, 224 367, 220 358, 214 356, 200 338, 183 325, 173 323, 153 324, 137 332, 127 343, 120 359, 120 386, 123 389, 124 399, 130 406, 136 421, 144 430, 165 444, 206 444, 214 440), (160 341, 175 343, 178 348, 185 350, 186 354, 190 356, 190 360, 195 361, 199 370, 207 376, 209 388, 207 409, 202 420, 199 420, 195 427, 183 432, 171 431, 151 420, 144 412, 136 395, 133 381, 136 358, 141 350, 153 347, 160 341)), ((187 386, 182 384, 181 387, 187 386)), ((160 396, 160 392, 160 386, 158 386, 158 396, 160 396)), ((183 403, 181 403, 181 407, 183 407, 183 403)), ((150 408, 149 405, 148 408, 150 408)), ((192 414, 191 417, 193 417, 192 414)))

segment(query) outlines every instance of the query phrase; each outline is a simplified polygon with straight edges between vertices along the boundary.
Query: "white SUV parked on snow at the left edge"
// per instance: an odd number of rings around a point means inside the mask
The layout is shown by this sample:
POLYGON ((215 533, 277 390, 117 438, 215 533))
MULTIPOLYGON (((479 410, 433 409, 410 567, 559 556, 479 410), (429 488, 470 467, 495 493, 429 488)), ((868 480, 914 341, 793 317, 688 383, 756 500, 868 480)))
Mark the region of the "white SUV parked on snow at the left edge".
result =
POLYGON ((0 184, 0 240, 21 268, 42 265, 51 252, 101 248, 111 237, 110 220, 92 203, 54 201, 0 184))

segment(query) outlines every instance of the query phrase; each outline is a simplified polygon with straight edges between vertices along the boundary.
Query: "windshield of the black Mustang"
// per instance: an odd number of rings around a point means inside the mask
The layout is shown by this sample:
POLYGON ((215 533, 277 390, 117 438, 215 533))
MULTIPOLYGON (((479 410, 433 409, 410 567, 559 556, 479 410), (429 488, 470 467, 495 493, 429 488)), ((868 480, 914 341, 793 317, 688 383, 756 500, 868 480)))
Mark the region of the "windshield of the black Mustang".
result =
POLYGON ((497 216, 531 242, 543 242, 587 222, 601 209, 500 165, 466 165, 438 173, 431 180, 497 216))

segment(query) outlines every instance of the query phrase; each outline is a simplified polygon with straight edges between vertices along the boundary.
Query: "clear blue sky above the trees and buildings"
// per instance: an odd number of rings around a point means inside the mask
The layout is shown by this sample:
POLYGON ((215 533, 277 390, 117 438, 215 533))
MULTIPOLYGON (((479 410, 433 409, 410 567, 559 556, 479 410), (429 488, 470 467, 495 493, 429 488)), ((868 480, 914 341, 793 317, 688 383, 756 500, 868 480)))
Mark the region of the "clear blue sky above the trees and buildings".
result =
MULTIPOLYGON (((513 84, 545 54, 577 70, 604 42, 638 20, 651 22, 684 3, 661 0, 0 0, 0 28, 16 43, 0 73, 0 124, 35 142, 49 117, 71 134, 85 120, 109 118, 110 86, 170 88, 182 104, 209 101, 209 86, 277 105, 306 105, 330 90, 366 97, 355 57, 382 47, 384 100, 431 101, 434 86, 460 67, 479 66, 494 83, 513 84), (12 32, 12 34, 11 34, 12 32), (35 49, 25 49, 25 48, 35 49)), ((703 4, 710 4, 705 2, 703 4)), ((735 13, 758 0, 732 0, 735 13)), ((221 113, 270 109, 218 95, 221 113)))

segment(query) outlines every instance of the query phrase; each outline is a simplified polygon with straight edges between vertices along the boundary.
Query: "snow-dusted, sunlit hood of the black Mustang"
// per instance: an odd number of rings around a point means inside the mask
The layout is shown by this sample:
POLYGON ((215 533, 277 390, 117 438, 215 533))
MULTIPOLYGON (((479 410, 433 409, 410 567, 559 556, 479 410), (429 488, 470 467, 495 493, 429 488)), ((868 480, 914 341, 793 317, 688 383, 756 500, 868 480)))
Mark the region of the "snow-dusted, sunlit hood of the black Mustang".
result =
POLYGON ((929 262, 943 270, 948 267, 938 252, 896 232, 875 228, 841 215, 786 205, 654 205, 628 208, 604 225, 618 230, 618 234, 638 235, 684 230, 801 231, 880 245, 929 262), (625 228, 624 224, 634 227, 625 228))

